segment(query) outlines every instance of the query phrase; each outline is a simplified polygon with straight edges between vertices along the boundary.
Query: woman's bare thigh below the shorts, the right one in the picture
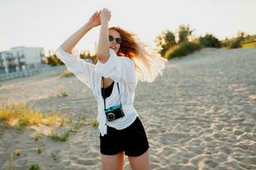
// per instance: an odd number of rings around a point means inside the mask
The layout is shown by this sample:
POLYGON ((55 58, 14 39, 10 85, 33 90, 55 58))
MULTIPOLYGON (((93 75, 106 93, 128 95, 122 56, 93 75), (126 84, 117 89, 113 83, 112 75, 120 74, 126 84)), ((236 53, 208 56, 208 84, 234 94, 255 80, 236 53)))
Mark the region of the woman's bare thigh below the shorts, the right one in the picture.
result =
POLYGON ((132 170, 149 170, 149 149, 141 156, 128 156, 132 170))

